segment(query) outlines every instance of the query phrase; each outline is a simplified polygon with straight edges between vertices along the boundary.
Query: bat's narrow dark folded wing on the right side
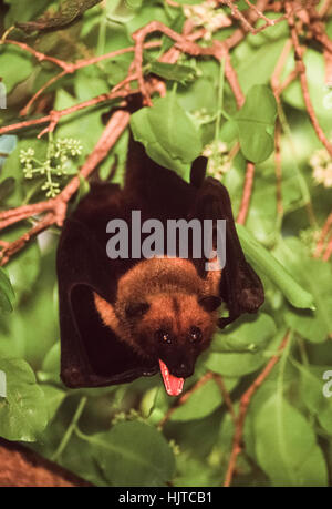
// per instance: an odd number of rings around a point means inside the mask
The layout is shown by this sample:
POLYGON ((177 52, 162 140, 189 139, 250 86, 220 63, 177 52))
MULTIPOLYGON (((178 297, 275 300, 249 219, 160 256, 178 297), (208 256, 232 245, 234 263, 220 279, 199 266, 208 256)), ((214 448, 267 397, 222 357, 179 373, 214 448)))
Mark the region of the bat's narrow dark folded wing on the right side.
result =
MULTIPOLYGON (((203 165, 201 161, 199 165, 203 165)), ((205 179, 197 193, 195 212, 190 215, 227 222, 226 265, 222 268, 220 296, 227 303, 229 316, 219 319, 219 327, 224 328, 242 313, 258 311, 264 301, 263 286, 246 261, 237 235, 228 191, 220 182, 212 177, 205 179)))

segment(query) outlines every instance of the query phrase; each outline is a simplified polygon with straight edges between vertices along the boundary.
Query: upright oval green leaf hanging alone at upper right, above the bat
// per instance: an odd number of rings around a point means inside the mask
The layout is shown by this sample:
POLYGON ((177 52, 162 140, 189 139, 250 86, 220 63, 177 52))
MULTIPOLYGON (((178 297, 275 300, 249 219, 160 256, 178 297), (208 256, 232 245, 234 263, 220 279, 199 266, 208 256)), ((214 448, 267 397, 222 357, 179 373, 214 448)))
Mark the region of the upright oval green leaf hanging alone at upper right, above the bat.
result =
POLYGON ((241 151, 249 161, 261 163, 273 152, 276 116, 277 103, 269 86, 253 85, 235 116, 241 151))

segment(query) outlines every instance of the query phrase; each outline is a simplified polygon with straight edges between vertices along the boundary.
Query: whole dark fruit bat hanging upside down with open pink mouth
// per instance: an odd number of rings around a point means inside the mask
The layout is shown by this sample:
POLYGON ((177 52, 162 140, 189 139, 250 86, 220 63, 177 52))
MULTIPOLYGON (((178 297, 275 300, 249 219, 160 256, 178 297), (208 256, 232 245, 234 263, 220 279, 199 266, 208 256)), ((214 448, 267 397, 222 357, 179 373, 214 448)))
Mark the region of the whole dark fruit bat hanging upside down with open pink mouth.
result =
MULTIPOLYGON (((205 157, 196 159, 187 183, 152 161, 131 135, 123 187, 92 184, 65 220, 56 268, 66 386, 108 386, 162 373, 167 393, 176 396, 217 327, 262 304, 262 284, 245 258, 228 192, 206 177, 206 165, 205 157), (169 220, 226 220, 224 268, 208 271, 208 257, 197 258, 193 250, 186 258, 133 256, 133 211, 142 221, 158 220, 165 232, 169 220), (129 255, 111 259, 113 218, 128 225, 129 255), (221 303, 228 316, 220 318, 221 303)), ((146 237, 142 233, 142 242, 146 237)))

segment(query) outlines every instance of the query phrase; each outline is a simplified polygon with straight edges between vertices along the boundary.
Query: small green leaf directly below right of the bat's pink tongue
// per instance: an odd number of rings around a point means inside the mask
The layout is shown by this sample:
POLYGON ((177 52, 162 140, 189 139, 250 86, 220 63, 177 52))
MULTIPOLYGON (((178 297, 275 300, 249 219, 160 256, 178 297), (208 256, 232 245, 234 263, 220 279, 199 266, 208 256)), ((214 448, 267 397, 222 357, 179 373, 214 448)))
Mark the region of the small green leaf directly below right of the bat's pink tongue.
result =
MULTIPOLYGON (((231 390, 237 378, 225 378, 225 385, 231 390)), ((196 420, 212 414, 222 405, 222 395, 215 380, 208 380, 201 387, 193 393, 189 399, 172 414, 170 420, 196 420)))

